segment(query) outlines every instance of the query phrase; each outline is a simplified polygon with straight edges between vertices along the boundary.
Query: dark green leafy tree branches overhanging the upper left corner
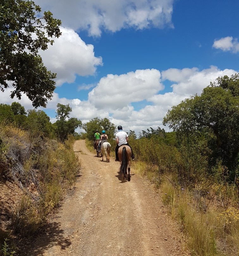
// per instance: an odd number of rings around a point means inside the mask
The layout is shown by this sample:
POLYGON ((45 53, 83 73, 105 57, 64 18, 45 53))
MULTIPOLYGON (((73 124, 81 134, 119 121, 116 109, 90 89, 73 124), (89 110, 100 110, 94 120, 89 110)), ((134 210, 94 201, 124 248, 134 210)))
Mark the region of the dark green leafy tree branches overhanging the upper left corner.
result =
POLYGON ((50 11, 38 17, 40 6, 33 1, 2 0, 0 2, 0 89, 14 90, 10 97, 21 99, 25 93, 34 107, 46 106, 55 89, 56 74, 47 71, 38 54, 61 35, 61 21, 50 11))

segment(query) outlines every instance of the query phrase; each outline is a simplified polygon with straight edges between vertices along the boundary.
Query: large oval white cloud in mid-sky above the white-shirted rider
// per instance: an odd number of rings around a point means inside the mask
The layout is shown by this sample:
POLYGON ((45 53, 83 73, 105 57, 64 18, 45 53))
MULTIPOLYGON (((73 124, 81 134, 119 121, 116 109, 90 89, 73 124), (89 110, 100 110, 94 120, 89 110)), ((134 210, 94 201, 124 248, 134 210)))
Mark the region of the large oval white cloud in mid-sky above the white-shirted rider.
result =
POLYGON ((89 102, 98 109, 122 109, 132 102, 142 101, 162 90, 161 74, 156 69, 136 70, 127 74, 108 74, 89 93, 89 102))

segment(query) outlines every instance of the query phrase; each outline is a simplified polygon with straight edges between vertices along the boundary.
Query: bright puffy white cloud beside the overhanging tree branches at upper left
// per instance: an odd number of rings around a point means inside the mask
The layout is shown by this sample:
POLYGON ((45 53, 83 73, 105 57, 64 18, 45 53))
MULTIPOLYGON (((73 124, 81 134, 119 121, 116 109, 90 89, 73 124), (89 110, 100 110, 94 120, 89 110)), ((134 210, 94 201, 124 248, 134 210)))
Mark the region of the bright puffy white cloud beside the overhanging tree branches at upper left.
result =
POLYGON ((57 73, 56 85, 73 83, 76 75, 94 75, 102 58, 95 57, 94 46, 86 44, 72 29, 60 28, 62 35, 54 39, 46 51, 40 55, 47 69, 57 73))

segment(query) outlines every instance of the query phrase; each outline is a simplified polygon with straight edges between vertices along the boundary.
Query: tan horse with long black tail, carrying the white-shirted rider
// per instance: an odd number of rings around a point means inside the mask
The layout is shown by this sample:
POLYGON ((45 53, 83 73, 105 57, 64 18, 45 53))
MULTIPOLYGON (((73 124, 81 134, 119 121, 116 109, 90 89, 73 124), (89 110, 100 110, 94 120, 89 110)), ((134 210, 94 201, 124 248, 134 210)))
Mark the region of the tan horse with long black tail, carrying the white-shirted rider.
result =
POLYGON ((131 159, 131 148, 127 145, 119 147, 118 156, 120 160, 120 175, 124 181, 127 174, 128 167, 128 181, 130 181, 130 159, 131 159))

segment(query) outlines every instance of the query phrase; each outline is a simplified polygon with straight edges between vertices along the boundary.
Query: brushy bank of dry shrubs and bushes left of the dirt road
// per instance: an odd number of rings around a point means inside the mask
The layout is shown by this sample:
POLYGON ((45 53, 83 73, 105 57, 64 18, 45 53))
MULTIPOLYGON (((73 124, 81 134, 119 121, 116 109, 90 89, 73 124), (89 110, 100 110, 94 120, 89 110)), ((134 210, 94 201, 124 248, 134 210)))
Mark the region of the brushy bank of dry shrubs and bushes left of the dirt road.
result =
POLYGON ((17 241, 44 225, 74 187, 73 133, 81 121, 66 120, 70 111, 58 104, 59 121, 51 124, 43 111, 0 104, 0 255, 18 252, 17 241))

